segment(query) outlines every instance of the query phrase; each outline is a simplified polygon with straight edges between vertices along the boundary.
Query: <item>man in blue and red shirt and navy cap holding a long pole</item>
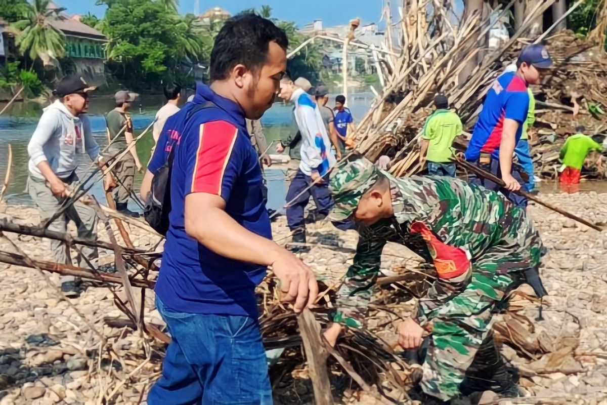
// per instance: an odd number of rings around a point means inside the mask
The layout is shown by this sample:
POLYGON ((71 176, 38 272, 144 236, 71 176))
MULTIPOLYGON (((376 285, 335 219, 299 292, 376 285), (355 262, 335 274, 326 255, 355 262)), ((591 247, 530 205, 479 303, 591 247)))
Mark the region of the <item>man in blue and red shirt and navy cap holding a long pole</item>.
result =
MULTIPOLYGON (((507 72, 493 83, 478 116, 472 138, 466 150, 466 160, 487 163, 492 174, 505 183, 502 192, 515 205, 525 207, 527 200, 515 194, 521 188, 521 178, 512 172, 512 155, 521 138, 523 124, 529 109, 529 84, 540 84, 552 60, 545 46, 532 44, 525 47, 517 60, 516 72, 507 72), (488 159, 488 162, 483 162, 488 159)), ((488 180, 481 184, 497 190, 500 186, 488 180)))

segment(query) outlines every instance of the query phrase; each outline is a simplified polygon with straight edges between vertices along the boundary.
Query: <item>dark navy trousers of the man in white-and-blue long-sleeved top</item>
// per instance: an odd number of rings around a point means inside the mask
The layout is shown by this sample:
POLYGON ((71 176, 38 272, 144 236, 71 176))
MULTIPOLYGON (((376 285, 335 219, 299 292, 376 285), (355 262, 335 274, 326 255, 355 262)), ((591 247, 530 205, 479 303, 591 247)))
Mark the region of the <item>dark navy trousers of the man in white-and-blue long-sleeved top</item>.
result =
POLYGON ((310 189, 297 197, 312 182, 312 178, 309 175, 305 175, 301 169, 297 169, 297 174, 291 180, 291 185, 287 191, 287 203, 290 203, 290 206, 287 207, 287 225, 291 231, 305 229, 304 209, 308 205, 310 196, 314 199, 319 214, 326 215, 329 213, 329 209, 333 206, 329 193, 329 176, 325 175, 323 180, 322 183, 311 186, 310 189), (295 197, 297 199, 291 202, 295 197))

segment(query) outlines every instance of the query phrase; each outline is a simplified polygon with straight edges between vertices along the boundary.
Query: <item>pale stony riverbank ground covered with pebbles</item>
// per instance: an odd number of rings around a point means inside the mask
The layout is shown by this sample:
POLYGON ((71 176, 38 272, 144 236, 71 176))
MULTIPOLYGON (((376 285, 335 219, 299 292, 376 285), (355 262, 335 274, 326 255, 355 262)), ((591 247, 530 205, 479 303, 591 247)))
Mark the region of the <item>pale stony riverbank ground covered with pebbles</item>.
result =
MULTIPOLYGON (((607 222, 607 194, 585 192, 541 194, 541 197, 592 222, 607 222)), ((0 218, 22 224, 33 225, 39 220, 37 211, 29 207, 4 206, 0 211, 0 218)), ((525 403, 607 404, 606 234, 541 206, 532 206, 530 215, 550 250, 542 270, 550 296, 544 300, 544 321, 534 321, 538 305, 532 298, 520 301, 517 298, 514 315, 502 316, 504 325, 532 342, 531 346, 521 344, 527 353, 504 345, 504 355, 520 369, 523 389, 535 397, 526 398, 525 403), (524 330, 515 327, 513 318, 525 326, 524 330), (534 322, 527 325, 524 319, 534 322), (532 344, 539 349, 529 352, 535 347, 532 344)), ((151 249, 159 240, 141 228, 130 228, 137 247, 151 249)), ((273 228, 275 239, 287 242, 288 231, 282 218, 273 228)), ((107 239, 104 230, 99 231, 102 239, 107 239)), ((115 234, 120 242, 120 235, 115 234)), ((314 268, 320 280, 331 285, 345 274, 351 262, 356 233, 344 233, 320 222, 308 226, 308 235, 310 250, 302 253, 302 259, 314 268)), ((46 242, 15 234, 7 236, 32 258, 51 259, 46 242)), ((15 249, 2 238, 0 251, 15 252, 15 249)), ((107 263, 112 256, 102 251, 100 260, 107 263)), ((405 248, 390 244, 382 257, 382 271, 399 274, 403 268, 417 267, 419 262, 405 248)), ((49 283, 35 269, 0 264, 0 275, 0 405, 88 405, 99 403, 100 397, 117 404, 145 400, 149 384, 160 371, 163 345, 111 322, 123 315, 108 288, 86 284, 80 298, 71 301, 71 307, 58 297, 57 274, 47 274, 49 283), (108 320, 114 327, 107 325, 108 320), (96 333, 103 336, 103 341, 96 333)), ((529 292, 524 288, 522 291, 529 292)), ((145 320, 161 325, 153 302, 153 293, 149 291, 144 303, 145 320)), ((399 313, 406 314, 412 304, 399 306, 399 313)), ((370 319, 371 328, 376 324, 375 319, 370 319)), ((389 325, 382 331, 385 338, 392 334, 389 325)), ((287 386, 305 377, 302 369, 303 366, 276 382, 276 403, 310 400, 308 383, 287 386)), ((356 395, 352 389, 340 390, 336 395, 339 402, 373 403, 368 396, 356 395)))

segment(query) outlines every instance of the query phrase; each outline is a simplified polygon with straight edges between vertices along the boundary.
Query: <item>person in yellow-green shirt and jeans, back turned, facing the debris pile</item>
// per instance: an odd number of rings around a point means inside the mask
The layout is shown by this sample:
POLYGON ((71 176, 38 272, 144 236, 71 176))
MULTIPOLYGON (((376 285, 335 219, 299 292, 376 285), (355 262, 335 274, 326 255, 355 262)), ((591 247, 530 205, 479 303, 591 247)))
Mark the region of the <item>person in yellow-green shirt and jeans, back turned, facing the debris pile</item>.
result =
POLYGON ((449 100, 443 94, 434 98, 434 112, 424 124, 419 163, 428 161, 428 174, 455 177, 453 140, 461 135, 461 120, 455 112, 449 111, 449 100))

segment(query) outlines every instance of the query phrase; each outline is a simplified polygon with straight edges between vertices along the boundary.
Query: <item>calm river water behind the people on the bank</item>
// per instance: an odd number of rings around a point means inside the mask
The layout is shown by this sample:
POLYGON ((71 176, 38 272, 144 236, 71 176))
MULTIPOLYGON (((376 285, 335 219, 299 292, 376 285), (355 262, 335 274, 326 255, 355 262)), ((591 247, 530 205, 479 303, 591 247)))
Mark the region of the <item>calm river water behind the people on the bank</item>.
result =
MULTIPOLYGON (((334 100, 334 96, 330 96, 329 100, 328 105, 333 106, 332 100, 334 100)), ((364 117, 372 100, 373 94, 371 92, 351 94, 351 97, 348 99, 348 107, 355 121, 359 121, 364 117)), ((140 134, 154 120, 156 112, 163 103, 163 95, 146 95, 135 100, 131 110, 135 135, 140 134)), ((0 110, 2 107, 4 106, 0 104, 0 110)), ((32 204, 32 200, 25 190, 28 161, 27 143, 36 129, 36 124, 38 124, 43 107, 38 103, 14 103, 4 114, 0 115, 0 187, 2 182, 4 182, 9 144, 12 146, 13 151, 12 172, 7 191, 5 191, 5 199, 9 203, 32 204)), ((114 98, 111 96, 93 97, 91 99, 89 109, 90 121, 93 134, 102 147, 107 144, 104 114, 107 114, 113 108, 114 98)), ((282 102, 274 104, 271 109, 266 111, 261 121, 268 143, 279 140, 280 137, 287 134, 291 114, 291 107, 282 102)), ((148 162, 153 145, 154 140, 152 139, 151 131, 137 142, 137 153, 142 163, 148 162)), ((274 151, 274 148, 271 148, 271 151, 274 151)), ((78 173, 81 178, 86 175, 86 169, 89 165, 90 159, 87 155, 83 155, 81 157, 81 170, 78 173)), ((271 201, 268 206, 269 208, 277 209, 282 205, 286 192, 283 172, 279 169, 270 169, 266 170, 265 175, 271 194, 271 201)), ((137 188, 140 185, 141 177, 143 177, 143 173, 138 173, 135 179, 137 188)), ((93 188, 92 192, 100 201, 104 201, 103 189, 100 186, 93 188)), ((137 208, 134 203, 129 203, 129 206, 133 209, 137 208)))

